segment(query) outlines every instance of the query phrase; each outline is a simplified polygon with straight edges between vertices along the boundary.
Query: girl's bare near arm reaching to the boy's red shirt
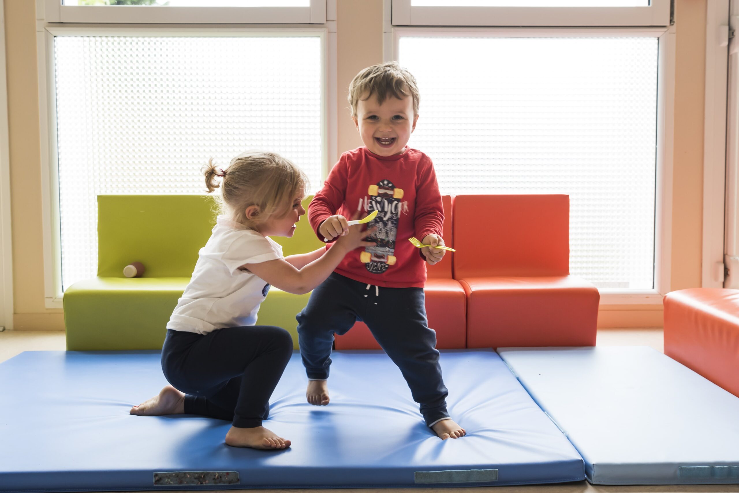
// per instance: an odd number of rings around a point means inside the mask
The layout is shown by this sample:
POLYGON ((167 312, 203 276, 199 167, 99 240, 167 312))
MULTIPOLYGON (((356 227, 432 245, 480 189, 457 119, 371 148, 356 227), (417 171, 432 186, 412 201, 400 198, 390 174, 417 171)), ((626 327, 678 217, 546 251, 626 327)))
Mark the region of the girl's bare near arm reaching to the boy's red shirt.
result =
POLYGON ((324 255, 301 269, 296 269, 284 258, 260 263, 245 263, 242 267, 277 289, 293 294, 305 294, 313 291, 313 288, 326 280, 326 277, 333 272, 333 269, 336 269, 348 252, 359 247, 375 245, 372 241, 364 241, 364 238, 367 238, 372 232, 374 232, 374 228, 362 231, 359 224, 350 227, 347 235, 340 236, 333 247, 328 249, 324 255))

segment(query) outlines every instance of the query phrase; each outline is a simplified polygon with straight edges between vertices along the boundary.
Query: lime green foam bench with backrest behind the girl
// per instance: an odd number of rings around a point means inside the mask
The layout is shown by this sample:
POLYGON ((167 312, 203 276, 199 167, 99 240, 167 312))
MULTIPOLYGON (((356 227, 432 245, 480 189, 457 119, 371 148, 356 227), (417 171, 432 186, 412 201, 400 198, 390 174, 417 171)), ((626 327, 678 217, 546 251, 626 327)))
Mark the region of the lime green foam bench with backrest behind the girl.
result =
MULTIPOLYGON (((211 196, 98 196, 98 277, 78 281, 64 292, 67 350, 161 349, 197 252, 211 235, 215 210, 211 196), (123 276, 123 267, 135 261, 143 263, 143 277, 123 276)), ((273 240, 285 256, 323 245, 305 216, 293 238, 273 240)), ((309 297, 272 287, 257 323, 287 329, 298 348, 295 316, 309 297)))

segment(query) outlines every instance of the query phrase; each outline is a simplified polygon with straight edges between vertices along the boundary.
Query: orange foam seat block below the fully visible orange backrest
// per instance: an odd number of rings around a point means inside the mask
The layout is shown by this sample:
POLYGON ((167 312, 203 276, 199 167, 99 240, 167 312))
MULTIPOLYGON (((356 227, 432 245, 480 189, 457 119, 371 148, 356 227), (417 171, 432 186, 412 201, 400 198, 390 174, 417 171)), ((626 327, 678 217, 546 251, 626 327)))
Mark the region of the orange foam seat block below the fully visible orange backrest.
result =
POLYGON ((573 276, 469 277, 467 347, 596 345, 598 289, 573 276))

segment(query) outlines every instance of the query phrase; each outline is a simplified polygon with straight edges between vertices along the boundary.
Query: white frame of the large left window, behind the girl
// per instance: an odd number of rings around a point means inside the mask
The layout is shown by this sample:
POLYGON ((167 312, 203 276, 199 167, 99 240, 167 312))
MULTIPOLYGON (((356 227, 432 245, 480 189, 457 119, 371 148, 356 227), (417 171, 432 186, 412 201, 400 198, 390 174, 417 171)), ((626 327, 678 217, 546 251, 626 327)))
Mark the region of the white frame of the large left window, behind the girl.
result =
MULTIPOLYGON (((330 0, 332 1, 332 0, 330 0)), ((329 10, 336 13, 336 9, 329 10)), ((336 19, 336 17, 334 17, 336 19)), ((57 36, 304 36, 321 38, 321 179, 328 174, 329 162, 338 159, 336 120, 338 113, 336 90, 336 21, 323 26, 58 26, 42 25, 36 32, 38 46, 38 108, 41 134, 41 198, 44 241, 44 305, 64 308, 61 283, 61 218, 59 204, 58 146, 56 133, 56 80, 54 71, 54 38, 57 36)))

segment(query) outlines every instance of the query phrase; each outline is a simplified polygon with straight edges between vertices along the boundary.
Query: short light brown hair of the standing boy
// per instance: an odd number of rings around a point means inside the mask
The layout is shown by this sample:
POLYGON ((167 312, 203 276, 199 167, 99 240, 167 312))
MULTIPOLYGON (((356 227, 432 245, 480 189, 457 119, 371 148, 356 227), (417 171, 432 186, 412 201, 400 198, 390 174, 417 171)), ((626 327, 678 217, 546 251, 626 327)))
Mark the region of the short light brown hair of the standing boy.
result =
POLYGON ((377 94, 378 103, 382 104, 388 97, 397 97, 399 100, 403 97, 413 97, 413 114, 418 114, 418 85, 415 77, 398 65, 396 61, 378 63, 378 65, 368 66, 354 76, 349 84, 349 103, 352 107, 352 117, 357 116, 357 103, 361 100, 367 100, 377 94))

